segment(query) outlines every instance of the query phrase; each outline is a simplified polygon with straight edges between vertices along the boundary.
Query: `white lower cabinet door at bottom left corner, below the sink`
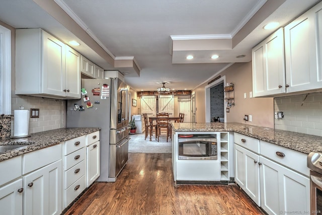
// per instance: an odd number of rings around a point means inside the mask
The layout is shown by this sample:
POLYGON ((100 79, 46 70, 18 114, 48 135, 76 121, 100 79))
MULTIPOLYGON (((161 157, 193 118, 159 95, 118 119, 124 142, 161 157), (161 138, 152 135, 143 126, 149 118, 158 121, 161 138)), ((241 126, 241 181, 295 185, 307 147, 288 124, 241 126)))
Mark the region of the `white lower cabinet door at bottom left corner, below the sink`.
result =
POLYGON ((22 179, 18 179, 0 188, 0 210, 1 214, 22 214, 22 179))

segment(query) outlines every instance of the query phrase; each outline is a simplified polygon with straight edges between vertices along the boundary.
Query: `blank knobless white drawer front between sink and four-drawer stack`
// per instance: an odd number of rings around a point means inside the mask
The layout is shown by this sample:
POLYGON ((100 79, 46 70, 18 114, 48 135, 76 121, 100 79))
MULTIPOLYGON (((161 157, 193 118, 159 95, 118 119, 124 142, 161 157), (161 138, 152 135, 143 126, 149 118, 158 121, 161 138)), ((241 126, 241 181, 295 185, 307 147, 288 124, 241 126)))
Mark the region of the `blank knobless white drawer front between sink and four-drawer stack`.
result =
POLYGON ((29 173, 61 159, 61 144, 24 154, 22 174, 29 173))

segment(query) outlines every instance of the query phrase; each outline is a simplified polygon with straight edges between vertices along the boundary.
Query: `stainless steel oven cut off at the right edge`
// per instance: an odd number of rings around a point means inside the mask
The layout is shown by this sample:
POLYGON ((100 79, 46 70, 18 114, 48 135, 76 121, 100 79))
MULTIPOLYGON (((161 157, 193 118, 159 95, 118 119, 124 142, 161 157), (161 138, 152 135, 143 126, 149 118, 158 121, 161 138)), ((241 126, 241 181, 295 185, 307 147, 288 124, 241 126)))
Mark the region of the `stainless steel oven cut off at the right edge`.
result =
POLYGON ((322 153, 310 153, 307 156, 310 169, 310 213, 322 212, 322 153))

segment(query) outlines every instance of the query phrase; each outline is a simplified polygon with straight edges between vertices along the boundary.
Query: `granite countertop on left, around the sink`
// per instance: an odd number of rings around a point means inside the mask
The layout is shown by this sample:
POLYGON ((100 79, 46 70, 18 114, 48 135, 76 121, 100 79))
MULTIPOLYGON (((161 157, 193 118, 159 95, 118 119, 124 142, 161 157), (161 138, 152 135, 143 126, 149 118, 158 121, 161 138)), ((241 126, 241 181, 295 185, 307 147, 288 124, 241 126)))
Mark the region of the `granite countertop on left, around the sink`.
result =
POLYGON ((93 133, 100 128, 59 128, 49 131, 32 133, 30 137, 25 138, 10 138, 0 142, 0 146, 8 145, 26 145, 25 147, 10 150, 5 153, 0 153, 0 162, 23 155, 25 153, 40 150, 59 144, 61 141, 66 141, 78 136, 93 133))

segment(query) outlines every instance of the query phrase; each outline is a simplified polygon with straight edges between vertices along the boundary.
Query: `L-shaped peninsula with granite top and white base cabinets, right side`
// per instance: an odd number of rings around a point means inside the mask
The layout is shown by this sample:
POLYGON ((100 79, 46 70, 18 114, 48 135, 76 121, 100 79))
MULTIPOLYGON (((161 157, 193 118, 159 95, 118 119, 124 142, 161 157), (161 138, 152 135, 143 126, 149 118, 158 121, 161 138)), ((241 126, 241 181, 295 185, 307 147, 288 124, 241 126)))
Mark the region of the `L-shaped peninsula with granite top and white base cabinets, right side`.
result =
POLYGON ((199 169, 205 167, 205 172, 220 175, 221 184, 225 178, 234 181, 268 214, 310 211, 306 161, 310 152, 322 152, 322 137, 243 123, 172 123, 172 129, 175 181, 193 177, 188 171, 183 175, 182 169, 199 165, 199 169), (178 159, 180 148, 184 148, 180 136, 193 134, 192 142, 194 134, 201 133, 216 135, 216 162, 211 168, 205 166, 207 160, 201 159, 187 160, 182 165, 178 159))

